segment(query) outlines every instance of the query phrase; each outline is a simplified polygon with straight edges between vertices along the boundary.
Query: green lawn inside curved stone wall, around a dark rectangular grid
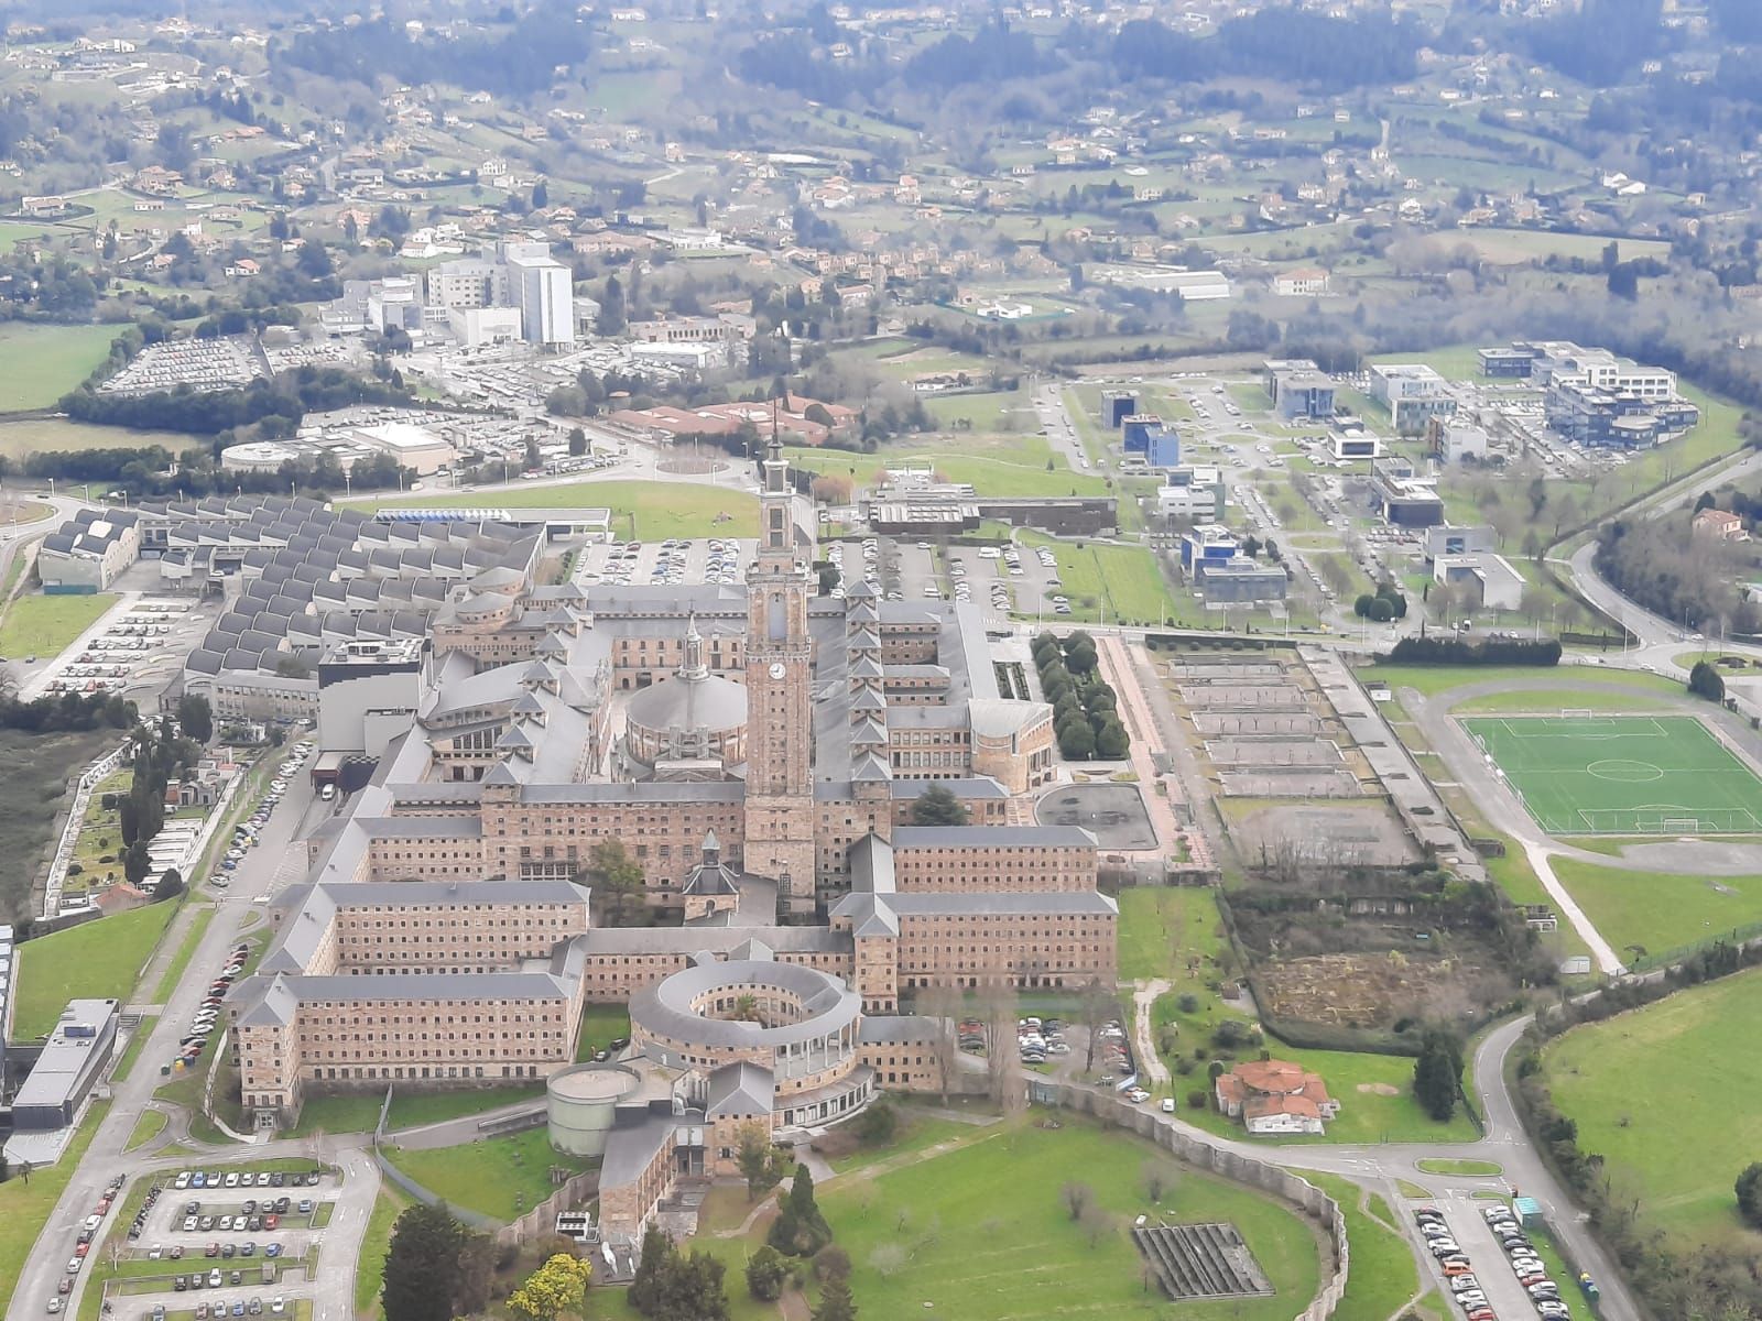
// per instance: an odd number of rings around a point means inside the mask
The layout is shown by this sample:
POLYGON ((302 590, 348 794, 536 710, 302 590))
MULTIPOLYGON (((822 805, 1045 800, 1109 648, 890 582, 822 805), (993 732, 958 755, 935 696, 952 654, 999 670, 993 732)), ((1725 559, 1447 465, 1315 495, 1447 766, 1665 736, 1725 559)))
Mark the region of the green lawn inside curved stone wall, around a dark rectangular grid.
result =
POLYGON ((1314 1296, 1318 1240, 1281 1203, 1177 1166, 1173 1191, 1152 1205, 1140 1171, 1147 1161, 1172 1164, 1165 1154, 1075 1115, 1059 1113, 1059 1124, 985 1129, 927 1161, 826 1185, 819 1205, 851 1256, 851 1288, 865 1314, 904 1317, 934 1309, 962 1321, 1073 1314, 1288 1321, 1314 1296), (1092 1245, 1061 1203, 1068 1182, 1087 1184, 1108 1217, 1092 1245), (1140 1280, 1126 1233, 1140 1214, 1233 1222, 1277 1293, 1170 1305, 1140 1280), (893 1273, 874 1265, 876 1251, 888 1244, 906 1249, 906 1265, 893 1273))

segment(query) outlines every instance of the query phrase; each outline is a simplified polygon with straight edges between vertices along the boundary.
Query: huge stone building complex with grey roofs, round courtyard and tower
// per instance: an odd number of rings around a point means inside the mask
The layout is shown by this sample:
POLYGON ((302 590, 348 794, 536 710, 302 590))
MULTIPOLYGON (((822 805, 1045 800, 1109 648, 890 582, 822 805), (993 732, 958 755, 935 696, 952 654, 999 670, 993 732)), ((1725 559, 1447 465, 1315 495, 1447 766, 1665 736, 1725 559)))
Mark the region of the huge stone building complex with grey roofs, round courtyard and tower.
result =
POLYGON ((611 1108, 566 1127, 610 1134, 608 1224, 634 1233, 728 1166, 724 1120, 936 1085, 914 990, 1114 981, 1094 837, 1033 823, 1050 708, 999 694, 967 606, 814 595, 775 444, 759 520, 744 588, 534 587, 502 560, 449 590, 414 668, 321 669, 321 729, 361 731, 370 773, 229 1004, 257 1124, 314 1089, 557 1078, 560 1106, 611 1108), (911 824, 930 782, 967 824, 911 824), (611 842, 659 925, 589 900, 611 842), (571 1067, 596 1000, 633 1007, 629 1089, 571 1067))

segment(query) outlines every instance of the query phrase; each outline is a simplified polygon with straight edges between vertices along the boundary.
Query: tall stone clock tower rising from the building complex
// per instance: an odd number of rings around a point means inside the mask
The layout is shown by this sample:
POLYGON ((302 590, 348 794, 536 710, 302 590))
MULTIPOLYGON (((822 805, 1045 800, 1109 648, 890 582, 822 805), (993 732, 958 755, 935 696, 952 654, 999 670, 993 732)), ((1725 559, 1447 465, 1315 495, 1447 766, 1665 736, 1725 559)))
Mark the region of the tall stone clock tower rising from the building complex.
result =
POLYGON ((759 550, 747 571, 747 801, 744 867, 777 881, 781 914, 814 911, 814 641, 809 560, 795 539, 788 467, 759 463, 759 550))

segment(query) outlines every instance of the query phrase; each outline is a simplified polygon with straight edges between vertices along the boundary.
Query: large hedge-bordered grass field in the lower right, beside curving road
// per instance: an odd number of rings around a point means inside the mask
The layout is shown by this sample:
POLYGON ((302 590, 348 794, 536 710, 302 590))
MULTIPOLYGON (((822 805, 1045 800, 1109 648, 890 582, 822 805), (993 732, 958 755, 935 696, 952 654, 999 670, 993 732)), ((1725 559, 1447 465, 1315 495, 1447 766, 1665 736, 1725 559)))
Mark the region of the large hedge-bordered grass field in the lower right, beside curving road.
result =
POLYGON ((1727 1245, 1744 1258, 1732 1180, 1762 1150, 1762 970, 1676 992, 1644 1009, 1575 1027, 1547 1048, 1547 1078, 1579 1147, 1603 1157, 1619 1201, 1683 1247, 1727 1245))

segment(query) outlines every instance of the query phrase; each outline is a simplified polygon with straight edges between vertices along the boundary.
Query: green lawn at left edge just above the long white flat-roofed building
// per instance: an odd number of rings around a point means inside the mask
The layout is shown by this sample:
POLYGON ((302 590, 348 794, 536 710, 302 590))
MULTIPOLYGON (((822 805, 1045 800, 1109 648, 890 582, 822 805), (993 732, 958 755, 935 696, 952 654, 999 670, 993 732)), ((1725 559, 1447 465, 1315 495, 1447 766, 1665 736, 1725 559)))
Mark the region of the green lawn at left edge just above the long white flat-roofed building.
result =
POLYGON ((12 1036, 33 1041, 55 1027, 74 999, 129 1000, 153 955, 174 902, 99 918, 18 948, 18 1002, 12 1036))

